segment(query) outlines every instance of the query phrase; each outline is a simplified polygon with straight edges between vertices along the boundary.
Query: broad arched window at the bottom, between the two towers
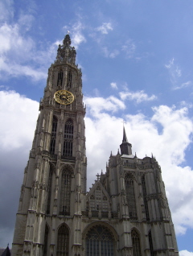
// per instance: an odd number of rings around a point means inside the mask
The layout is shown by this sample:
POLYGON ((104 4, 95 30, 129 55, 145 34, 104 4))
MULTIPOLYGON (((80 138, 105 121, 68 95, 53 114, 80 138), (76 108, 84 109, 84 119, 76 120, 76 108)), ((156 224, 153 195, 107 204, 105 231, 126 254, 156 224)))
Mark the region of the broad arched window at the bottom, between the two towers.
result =
POLYGON ((96 225, 89 229, 86 235, 86 256, 113 256, 113 234, 103 225, 96 225))

